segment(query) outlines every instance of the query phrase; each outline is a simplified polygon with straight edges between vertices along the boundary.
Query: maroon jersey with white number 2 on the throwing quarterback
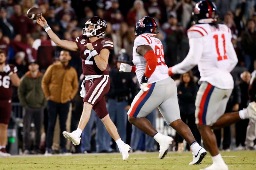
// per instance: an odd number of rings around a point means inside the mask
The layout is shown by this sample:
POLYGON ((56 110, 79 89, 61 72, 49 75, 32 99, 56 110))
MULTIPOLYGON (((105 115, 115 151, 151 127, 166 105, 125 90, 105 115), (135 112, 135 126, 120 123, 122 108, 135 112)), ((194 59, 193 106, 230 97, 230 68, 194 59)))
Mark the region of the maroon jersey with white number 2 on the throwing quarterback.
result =
MULTIPOLYGON (((106 70, 101 71, 92 57, 90 50, 84 47, 85 44, 90 43, 89 38, 85 35, 80 35, 76 38, 76 44, 82 57, 83 74, 84 75, 109 75, 108 66, 106 70)), ((93 48, 100 54, 100 50, 103 48, 111 50, 113 49, 113 40, 110 38, 100 38, 92 43, 93 48)))

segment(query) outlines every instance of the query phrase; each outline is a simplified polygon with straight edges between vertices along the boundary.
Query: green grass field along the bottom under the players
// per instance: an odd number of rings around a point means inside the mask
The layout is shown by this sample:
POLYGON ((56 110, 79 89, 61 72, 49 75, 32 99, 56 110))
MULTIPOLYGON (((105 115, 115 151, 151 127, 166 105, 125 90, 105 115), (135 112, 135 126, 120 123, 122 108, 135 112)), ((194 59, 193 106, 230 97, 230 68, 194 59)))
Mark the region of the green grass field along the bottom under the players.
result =
MULTIPOLYGON (((256 169, 255 151, 221 152, 230 170, 256 169)), ((164 159, 158 153, 130 153, 127 161, 121 154, 79 154, 72 156, 18 156, 0 158, 0 169, 184 169, 198 170, 212 164, 209 153, 200 165, 188 165, 191 152, 169 152, 164 159)))

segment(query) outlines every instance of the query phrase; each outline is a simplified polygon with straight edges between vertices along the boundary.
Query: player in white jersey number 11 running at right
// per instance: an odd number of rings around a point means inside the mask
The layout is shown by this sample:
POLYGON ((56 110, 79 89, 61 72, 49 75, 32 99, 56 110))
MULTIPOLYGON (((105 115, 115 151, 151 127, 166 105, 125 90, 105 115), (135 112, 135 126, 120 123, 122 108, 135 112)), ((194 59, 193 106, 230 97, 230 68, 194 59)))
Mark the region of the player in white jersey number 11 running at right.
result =
POLYGON ((216 6, 208 0, 195 6, 196 24, 188 30, 189 52, 179 64, 169 68, 169 75, 182 74, 196 64, 202 82, 196 96, 196 124, 204 145, 212 155, 213 164, 206 170, 226 170, 212 129, 238 122, 241 119, 256 118, 255 102, 236 113, 224 114, 234 81, 230 71, 237 64, 237 56, 231 43, 228 26, 216 24, 216 6))

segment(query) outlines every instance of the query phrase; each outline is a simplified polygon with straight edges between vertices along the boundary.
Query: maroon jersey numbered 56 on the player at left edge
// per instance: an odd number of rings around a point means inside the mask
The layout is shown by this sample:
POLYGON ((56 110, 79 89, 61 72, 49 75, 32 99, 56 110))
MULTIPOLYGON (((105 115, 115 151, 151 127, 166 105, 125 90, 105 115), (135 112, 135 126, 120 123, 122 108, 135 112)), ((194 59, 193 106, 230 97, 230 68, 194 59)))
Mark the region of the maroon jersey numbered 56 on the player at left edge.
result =
MULTIPOLYGON (((17 67, 9 64, 11 71, 16 73, 17 67)), ((12 82, 7 73, 0 71, 0 100, 10 100, 12 98, 12 82)))

